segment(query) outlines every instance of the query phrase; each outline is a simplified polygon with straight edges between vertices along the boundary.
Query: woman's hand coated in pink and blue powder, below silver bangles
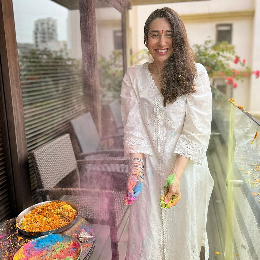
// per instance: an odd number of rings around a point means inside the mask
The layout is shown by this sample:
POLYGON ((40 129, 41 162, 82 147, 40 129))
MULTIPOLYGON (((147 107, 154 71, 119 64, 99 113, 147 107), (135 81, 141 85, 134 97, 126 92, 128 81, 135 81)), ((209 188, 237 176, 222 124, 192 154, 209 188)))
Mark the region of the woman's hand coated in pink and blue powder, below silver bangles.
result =
POLYGON ((139 171, 131 172, 129 175, 127 184, 124 202, 126 205, 131 205, 137 196, 140 194, 143 186, 143 175, 139 171))

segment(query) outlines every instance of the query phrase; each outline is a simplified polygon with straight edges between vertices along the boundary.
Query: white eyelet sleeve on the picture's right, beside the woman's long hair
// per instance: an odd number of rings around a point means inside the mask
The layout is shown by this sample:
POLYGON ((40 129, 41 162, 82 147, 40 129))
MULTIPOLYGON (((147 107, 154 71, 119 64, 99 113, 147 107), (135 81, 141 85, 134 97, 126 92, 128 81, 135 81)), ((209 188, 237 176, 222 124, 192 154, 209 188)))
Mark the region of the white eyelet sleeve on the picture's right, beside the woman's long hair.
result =
POLYGON ((184 126, 174 153, 202 164, 211 133, 212 95, 207 71, 201 64, 198 66, 200 68, 194 81, 196 92, 187 95, 184 126))

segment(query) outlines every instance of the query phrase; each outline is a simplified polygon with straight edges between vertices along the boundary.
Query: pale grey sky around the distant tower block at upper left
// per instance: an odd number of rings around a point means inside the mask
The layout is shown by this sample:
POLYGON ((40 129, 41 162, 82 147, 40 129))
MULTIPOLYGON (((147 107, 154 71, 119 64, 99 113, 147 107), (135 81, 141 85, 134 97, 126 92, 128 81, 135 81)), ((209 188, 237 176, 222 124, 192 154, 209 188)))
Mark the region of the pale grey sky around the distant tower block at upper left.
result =
POLYGON ((51 0, 12 0, 17 43, 34 43, 34 21, 57 19, 58 41, 67 41, 68 9, 51 0))

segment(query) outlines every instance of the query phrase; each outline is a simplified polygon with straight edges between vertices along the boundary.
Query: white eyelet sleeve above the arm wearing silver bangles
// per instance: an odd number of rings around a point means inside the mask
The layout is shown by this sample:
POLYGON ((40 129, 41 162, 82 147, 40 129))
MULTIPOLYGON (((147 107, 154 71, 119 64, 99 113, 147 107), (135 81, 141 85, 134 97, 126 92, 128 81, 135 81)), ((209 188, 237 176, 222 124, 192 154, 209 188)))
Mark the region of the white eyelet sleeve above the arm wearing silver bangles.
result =
POLYGON ((128 68, 121 89, 121 112, 124 124, 124 154, 130 159, 130 153, 152 154, 150 139, 141 118, 139 101, 132 86, 128 68))

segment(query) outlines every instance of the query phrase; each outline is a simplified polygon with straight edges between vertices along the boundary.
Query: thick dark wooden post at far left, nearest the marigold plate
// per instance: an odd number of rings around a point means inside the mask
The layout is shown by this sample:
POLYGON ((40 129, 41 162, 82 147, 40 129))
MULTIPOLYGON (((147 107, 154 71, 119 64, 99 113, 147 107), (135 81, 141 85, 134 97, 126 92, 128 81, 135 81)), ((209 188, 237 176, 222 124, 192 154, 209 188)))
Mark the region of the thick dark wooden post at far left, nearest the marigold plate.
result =
POLYGON ((17 211, 32 205, 12 0, 0 0, 0 55, 17 211))

